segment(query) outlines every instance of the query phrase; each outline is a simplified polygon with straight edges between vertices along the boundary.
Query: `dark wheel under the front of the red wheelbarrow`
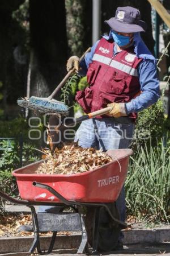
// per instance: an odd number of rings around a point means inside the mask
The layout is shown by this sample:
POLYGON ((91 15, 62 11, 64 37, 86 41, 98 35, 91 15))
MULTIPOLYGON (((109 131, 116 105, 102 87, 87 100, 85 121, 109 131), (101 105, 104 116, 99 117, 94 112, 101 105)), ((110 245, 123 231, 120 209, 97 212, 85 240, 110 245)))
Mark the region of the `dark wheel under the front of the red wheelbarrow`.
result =
MULTIPOLYGON (((120 219, 116 204, 112 203, 109 204, 109 209, 111 210, 113 216, 120 219)), ((93 247, 94 242, 94 224, 96 218, 96 210, 99 208, 96 207, 88 207, 85 224, 88 236, 88 243, 90 243, 91 247, 93 247)), ((100 208, 100 215, 99 215, 99 236, 98 236, 98 243, 97 243, 97 251, 112 251, 116 248, 118 237, 120 236, 120 225, 113 221, 107 210, 104 207, 100 208)))

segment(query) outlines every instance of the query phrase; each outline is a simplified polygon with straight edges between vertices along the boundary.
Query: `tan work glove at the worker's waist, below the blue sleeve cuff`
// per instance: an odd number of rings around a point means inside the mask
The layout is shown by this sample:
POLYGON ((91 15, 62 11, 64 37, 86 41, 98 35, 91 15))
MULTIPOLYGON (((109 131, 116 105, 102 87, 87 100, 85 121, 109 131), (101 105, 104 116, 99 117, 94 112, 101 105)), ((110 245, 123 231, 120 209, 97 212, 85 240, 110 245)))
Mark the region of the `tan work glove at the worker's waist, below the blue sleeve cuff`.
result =
POLYGON ((107 106, 111 107, 111 110, 107 115, 110 117, 125 117, 128 115, 126 113, 125 103, 110 103, 107 106))

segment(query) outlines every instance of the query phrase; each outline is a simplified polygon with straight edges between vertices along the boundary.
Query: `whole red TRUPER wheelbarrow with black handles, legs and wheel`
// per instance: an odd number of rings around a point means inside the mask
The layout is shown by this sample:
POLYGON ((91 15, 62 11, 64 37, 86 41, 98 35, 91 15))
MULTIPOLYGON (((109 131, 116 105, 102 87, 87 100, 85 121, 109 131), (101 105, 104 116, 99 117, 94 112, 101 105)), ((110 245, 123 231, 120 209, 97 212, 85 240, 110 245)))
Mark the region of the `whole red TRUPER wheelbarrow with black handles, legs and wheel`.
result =
POLYGON ((31 208, 35 239, 29 253, 35 248, 40 254, 52 251, 58 231, 81 231, 82 242, 78 253, 114 250, 121 229, 126 224, 120 221, 116 200, 128 170, 130 149, 109 150, 113 161, 95 170, 74 175, 36 174, 41 161, 15 170, 22 200, 12 199, 0 192, 4 199, 31 208), (36 212, 34 205, 48 205, 52 210, 36 212), (71 212, 66 212, 66 207, 71 212), (84 209, 86 207, 86 209, 84 209), (56 212, 55 212, 56 210, 56 212), (39 233, 53 232, 48 251, 41 251, 39 233))

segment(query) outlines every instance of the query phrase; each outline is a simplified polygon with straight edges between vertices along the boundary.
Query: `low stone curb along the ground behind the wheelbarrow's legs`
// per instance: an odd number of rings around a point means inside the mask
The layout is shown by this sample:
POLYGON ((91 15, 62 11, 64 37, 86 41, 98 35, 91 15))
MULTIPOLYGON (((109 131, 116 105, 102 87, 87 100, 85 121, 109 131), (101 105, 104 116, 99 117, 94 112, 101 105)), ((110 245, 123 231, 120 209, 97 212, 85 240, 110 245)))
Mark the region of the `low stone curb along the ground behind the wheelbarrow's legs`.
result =
MULTIPOLYGON (((134 244, 154 244, 170 242, 170 229, 138 229, 125 230, 124 245, 134 244)), ((50 237, 40 238, 42 250, 48 249, 50 237)), ((54 249, 72 249, 78 248, 81 241, 80 234, 71 234, 71 236, 57 236, 54 243, 54 249)), ((1 254, 22 253, 29 250, 33 242, 33 237, 3 237, 0 238, 0 256, 1 254)))

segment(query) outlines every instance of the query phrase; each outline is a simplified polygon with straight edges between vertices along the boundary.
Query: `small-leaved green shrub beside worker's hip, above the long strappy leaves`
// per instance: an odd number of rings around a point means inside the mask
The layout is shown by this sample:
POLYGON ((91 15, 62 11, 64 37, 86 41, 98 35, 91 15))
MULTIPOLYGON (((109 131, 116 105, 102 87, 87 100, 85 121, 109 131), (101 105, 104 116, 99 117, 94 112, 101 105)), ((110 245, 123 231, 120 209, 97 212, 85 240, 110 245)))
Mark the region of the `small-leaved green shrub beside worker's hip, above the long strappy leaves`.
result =
POLYGON ((154 145, 157 140, 162 138, 164 133, 164 108, 163 101, 159 100, 150 108, 138 113, 135 125, 135 135, 131 147, 144 146, 145 143, 154 145))

